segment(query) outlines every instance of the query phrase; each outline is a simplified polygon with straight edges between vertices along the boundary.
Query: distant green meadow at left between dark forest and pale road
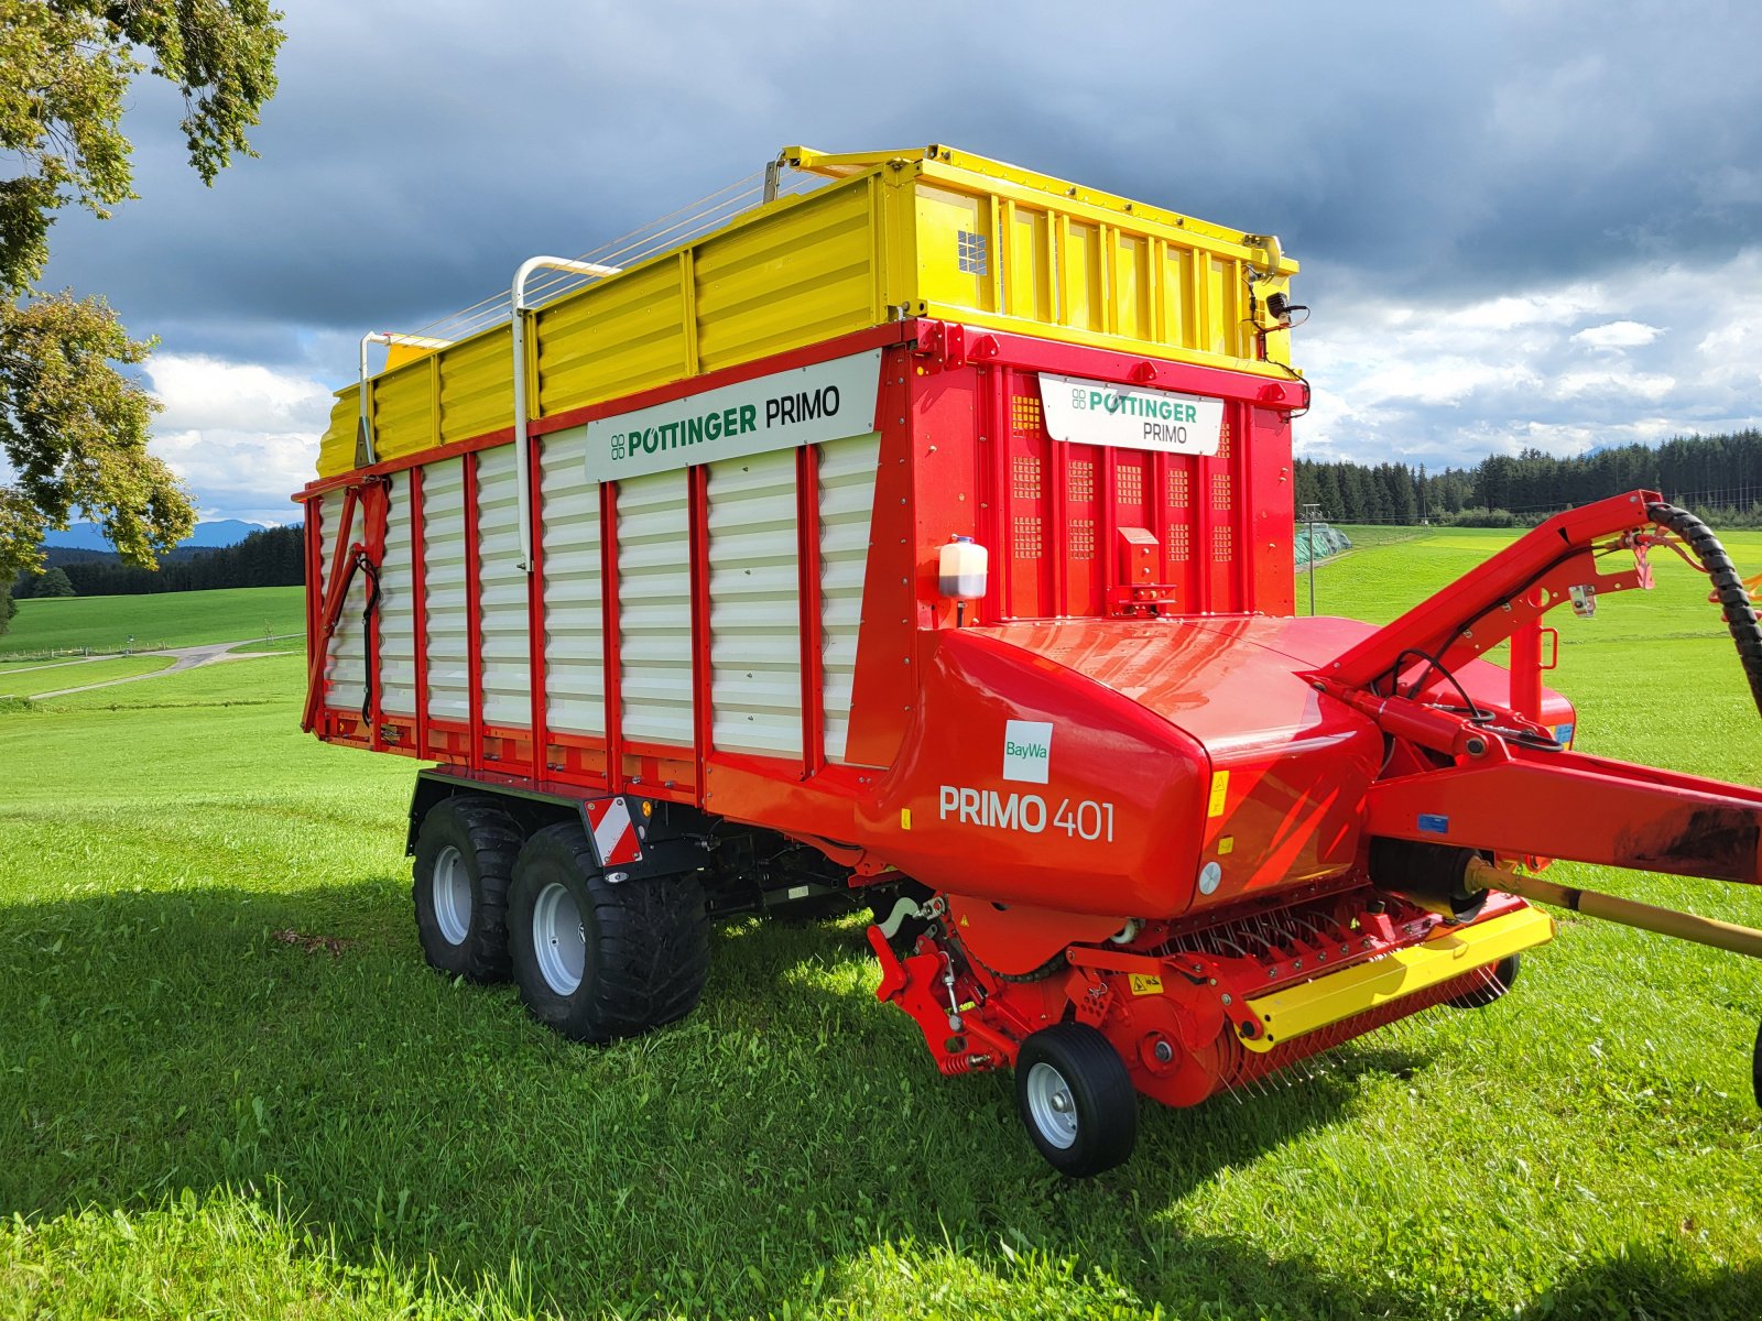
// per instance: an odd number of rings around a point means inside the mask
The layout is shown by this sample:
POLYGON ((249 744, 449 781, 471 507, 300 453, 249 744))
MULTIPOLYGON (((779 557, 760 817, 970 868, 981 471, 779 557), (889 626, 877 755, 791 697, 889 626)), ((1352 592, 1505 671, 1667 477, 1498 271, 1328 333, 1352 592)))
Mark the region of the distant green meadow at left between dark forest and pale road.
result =
POLYGON ((139 597, 46 597, 18 602, 18 616, 0 634, 0 659, 78 646, 93 652, 152 652, 199 646, 307 627, 298 587, 224 587, 139 597))

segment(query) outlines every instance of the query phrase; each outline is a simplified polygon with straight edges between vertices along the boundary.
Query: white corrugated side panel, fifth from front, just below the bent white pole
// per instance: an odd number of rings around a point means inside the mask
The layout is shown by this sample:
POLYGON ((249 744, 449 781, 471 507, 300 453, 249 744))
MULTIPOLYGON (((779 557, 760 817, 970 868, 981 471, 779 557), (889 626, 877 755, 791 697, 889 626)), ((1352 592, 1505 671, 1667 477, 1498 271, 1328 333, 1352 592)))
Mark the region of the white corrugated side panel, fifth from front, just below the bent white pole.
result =
POLYGON ((478 608, 483 620, 483 719, 532 724, 530 579, 520 567, 520 474, 515 447, 478 454, 478 608))

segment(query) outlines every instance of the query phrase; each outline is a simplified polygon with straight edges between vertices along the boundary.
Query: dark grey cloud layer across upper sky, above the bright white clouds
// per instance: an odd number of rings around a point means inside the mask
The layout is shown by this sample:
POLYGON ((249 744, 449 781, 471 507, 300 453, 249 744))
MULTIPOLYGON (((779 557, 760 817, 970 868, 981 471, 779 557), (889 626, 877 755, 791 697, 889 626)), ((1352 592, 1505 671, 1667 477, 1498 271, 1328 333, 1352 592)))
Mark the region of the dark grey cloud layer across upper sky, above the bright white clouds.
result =
POLYGON ((143 326, 409 324, 802 139, 953 141, 1277 229, 1311 292, 1718 255, 1762 220, 1753 5, 289 9, 263 160, 203 188, 143 83, 143 199, 67 217, 53 278, 143 326))

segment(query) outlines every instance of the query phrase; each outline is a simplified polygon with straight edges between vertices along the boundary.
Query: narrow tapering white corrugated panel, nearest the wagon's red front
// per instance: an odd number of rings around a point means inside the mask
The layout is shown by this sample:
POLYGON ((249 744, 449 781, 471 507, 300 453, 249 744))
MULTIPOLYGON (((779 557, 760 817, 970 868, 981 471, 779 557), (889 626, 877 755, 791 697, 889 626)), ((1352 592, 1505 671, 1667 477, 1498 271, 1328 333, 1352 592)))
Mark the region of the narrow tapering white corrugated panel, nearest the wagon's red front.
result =
POLYGON ((856 435, 819 447, 819 627, 826 761, 844 761, 856 678, 856 634, 863 622, 869 518, 876 502, 881 435, 856 435))

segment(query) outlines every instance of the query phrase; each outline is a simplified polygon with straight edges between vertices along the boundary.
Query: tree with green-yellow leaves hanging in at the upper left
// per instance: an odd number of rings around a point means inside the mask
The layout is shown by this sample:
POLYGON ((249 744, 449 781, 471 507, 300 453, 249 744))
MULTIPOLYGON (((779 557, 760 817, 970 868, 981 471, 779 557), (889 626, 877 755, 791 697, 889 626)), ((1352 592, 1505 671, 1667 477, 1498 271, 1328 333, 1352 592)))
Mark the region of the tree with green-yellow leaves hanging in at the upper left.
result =
POLYGON ((41 564, 48 528, 83 509, 130 564, 190 534, 189 491, 146 453, 157 403, 123 368, 130 340, 99 298, 33 289, 65 206, 99 218, 132 192, 122 107, 150 70, 183 93, 189 160, 204 183, 275 93, 280 14, 266 0, 0 0, 0 579, 41 564), (150 63, 148 63, 150 60, 150 63))

